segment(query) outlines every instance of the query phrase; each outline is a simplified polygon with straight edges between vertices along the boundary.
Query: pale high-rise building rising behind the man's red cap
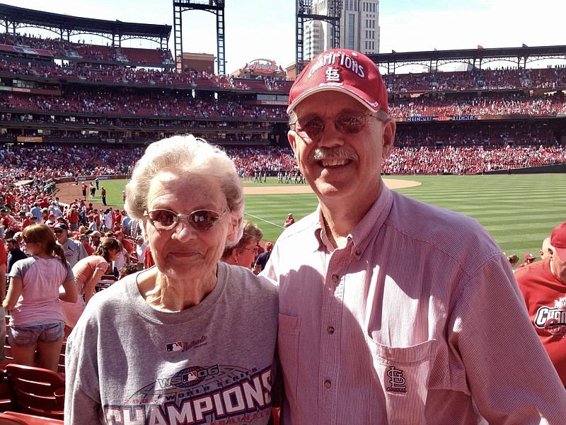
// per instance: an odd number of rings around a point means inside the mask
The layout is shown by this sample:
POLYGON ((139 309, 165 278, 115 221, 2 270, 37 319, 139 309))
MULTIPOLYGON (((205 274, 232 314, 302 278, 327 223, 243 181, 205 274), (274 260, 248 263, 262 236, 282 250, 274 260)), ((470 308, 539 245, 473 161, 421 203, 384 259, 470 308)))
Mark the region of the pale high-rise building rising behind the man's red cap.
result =
MULTIPOLYGON (((328 16, 329 2, 314 0, 311 13, 328 16)), ((326 21, 306 21, 304 28, 304 59, 333 47, 332 24, 326 21)), ((342 0, 340 15, 340 47, 364 54, 379 53, 379 0, 342 0)))

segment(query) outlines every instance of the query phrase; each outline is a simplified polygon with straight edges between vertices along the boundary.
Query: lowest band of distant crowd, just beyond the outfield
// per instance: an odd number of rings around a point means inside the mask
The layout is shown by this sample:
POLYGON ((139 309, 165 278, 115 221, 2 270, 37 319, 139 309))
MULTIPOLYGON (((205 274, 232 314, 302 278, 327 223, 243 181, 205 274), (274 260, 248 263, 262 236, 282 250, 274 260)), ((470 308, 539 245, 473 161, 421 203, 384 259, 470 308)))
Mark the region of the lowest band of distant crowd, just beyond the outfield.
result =
MULTIPOLYGON (((18 181, 48 181, 64 176, 129 175, 143 147, 62 146, 2 147, 4 188, 18 181)), ((297 171, 290 148, 229 147, 238 173, 297 171)), ((387 174, 480 174, 485 171, 566 163, 566 148, 554 146, 398 147, 383 166, 387 174)))

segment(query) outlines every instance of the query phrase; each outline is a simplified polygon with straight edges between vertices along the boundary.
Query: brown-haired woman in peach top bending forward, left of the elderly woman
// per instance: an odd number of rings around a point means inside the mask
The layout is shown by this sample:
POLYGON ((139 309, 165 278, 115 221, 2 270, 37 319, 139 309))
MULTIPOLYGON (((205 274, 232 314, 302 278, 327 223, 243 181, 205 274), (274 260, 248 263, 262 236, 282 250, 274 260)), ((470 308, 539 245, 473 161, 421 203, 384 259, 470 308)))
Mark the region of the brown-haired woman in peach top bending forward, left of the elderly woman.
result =
MULTIPOLYGON (((67 331, 76 326, 76 322, 81 317, 85 305, 91 300, 95 293, 95 286, 98 280, 106 273, 108 266, 117 259, 118 253, 122 250, 122 244, 113 237, 105 237, 100 241, 93 255, 87 256, 73 266, 76 290, 79 292, 79 299, 76 302, 62 302, 61 310, 67 331)), ((68 333, 68 332, 67 332, 68 333)))

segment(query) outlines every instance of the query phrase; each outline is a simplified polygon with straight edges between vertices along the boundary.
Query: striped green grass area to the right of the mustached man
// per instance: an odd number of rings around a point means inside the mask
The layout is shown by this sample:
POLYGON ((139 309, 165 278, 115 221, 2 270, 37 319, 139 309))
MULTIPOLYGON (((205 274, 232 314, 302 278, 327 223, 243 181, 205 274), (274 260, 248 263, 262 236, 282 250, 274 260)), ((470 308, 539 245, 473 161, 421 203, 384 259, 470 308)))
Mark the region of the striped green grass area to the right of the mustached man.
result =
POLYGON ((507 254, 538 256, 543 239, 566 220, 566 176, 422 176, 401 193, 474 217, 507 254))

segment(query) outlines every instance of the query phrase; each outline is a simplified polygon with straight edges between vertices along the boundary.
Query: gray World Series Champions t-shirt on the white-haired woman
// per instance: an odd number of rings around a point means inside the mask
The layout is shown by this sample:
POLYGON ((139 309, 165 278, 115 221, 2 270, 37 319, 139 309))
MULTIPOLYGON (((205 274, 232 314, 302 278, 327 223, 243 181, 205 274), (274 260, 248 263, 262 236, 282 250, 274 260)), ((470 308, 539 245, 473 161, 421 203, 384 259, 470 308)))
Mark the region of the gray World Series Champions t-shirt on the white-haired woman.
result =
POLYGON ((267 424, 277 288, 226 263, 217 278, 180 312, 148 305, 137 274, 95 295, 67 341, 65 423, 267 424))

